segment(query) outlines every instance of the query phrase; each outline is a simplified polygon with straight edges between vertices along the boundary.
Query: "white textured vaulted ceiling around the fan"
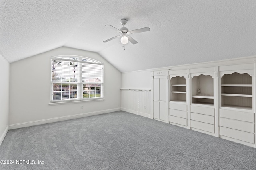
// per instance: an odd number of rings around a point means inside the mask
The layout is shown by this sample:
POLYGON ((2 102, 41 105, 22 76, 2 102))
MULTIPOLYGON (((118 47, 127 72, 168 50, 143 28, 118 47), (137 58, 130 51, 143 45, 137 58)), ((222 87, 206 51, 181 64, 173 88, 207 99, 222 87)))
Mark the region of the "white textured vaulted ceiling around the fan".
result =
POLYGON ((121 72, 256 55, 256 0, 0 0, 10 63, 61 46, 98 52, 121 72), (129 30, 124 48, 105 27, 129 30))

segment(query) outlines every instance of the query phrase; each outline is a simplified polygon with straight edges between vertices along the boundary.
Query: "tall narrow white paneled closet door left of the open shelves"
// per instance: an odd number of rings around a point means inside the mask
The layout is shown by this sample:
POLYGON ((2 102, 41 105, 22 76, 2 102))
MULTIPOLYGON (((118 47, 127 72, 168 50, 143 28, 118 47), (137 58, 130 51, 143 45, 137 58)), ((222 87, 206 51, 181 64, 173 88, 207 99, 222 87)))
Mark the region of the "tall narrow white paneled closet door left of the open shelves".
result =
POLYGON ((166 121, 166 71, 154 72, 153 78, 153 118, 166 121), (159 75, 160 74, 160 75, 159 75))

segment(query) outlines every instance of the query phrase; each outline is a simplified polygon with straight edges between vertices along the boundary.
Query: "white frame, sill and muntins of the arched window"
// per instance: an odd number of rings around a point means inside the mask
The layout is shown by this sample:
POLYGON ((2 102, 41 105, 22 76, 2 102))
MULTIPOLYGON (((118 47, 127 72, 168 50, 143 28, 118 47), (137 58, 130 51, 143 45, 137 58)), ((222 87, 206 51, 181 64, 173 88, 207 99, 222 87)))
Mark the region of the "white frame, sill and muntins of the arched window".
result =
MULTIPOLYGON (((54 66, 55 67, 55 66, 54 66)), ((60 103, 74 103, 74 102, 85 102, 85 101, 99 101, 99 100, 104 100, 104 64, 101 63, 100 61, 97 61, 95 59, 89 58, 89 57, 84 57, 84 56, 78 56, 78 55, 58 55, 58 56, 52 56, 50 57, 50 103, 49 104, 60 104, 60 103), (76 60, 74 59, 68 59, 68 58, 76 58, 76 60), (78 72, 78 78, 77 81, 72 82, 70 81, 53 81, 52 80, 52 74, 53 74, 53 60, 59 60, 59 61, 69 61, 69 62, 77 62, 77 71, 78 72), (96 91, 94 90, 94 96, 95 97, 90 97, 90 94, 88 95, 88 98, 84 98, 84 84, 89 83, 89 81, 83 81, 82 77, 84 77, 82 75, 82 68, 84 68, 82 65, 83 63, 87 63, 87 64, 92 64, 90 66, 93 66, 93 64, 95 65, 101 65, 101 71, 98 71, 99 75, 100 75, 100 80, 98 84, 100 84, 100 96, 96 97, 96 91), (85 83, 86 82, 86 83, 85 83), (61 99, 60 100, 56 100, 54 99, 54 84, 76 84, 76 98, 70 98, 69 99, 61 99)), ((90 68, 86 68, 86 69, 90 69, 90 68)), ((90 78, 90 76, 88 76, 88 79, 90 78)), ((96 79, 96 77, 94 77, 94 79, 96 79)), ((97 82, 94 82, 95 84, 97 84, 97 82)), ((64 90, 60 91, 61 94, 64 92, 64 90)), ((69 93, 70 88, 69 88, 69 93)), ((62 96, 62 95, 61 95, 62 96)))

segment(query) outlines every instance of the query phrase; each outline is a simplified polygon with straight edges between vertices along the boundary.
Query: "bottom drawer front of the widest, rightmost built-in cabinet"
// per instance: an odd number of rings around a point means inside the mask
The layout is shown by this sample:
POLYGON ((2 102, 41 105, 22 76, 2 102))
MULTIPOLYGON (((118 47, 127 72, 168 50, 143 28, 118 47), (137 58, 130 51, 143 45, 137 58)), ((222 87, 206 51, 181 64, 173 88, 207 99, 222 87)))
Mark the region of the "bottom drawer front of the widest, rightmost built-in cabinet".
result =
POLYGON ((230 129, 230 128, 220 126, 220 135, 231 137, 231 138, 249 142, 249 143, 254 143, 254 133, 238 131, 235 129, 230 129))

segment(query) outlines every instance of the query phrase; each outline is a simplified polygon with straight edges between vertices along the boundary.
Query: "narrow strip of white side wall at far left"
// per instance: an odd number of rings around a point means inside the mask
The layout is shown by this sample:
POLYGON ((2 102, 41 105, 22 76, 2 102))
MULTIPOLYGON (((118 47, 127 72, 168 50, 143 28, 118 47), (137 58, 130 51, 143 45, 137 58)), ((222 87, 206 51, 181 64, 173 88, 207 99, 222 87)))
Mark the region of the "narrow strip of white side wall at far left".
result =
POLYGON ((0 55, 0 145, 8 131, 10 64, 0 55))

